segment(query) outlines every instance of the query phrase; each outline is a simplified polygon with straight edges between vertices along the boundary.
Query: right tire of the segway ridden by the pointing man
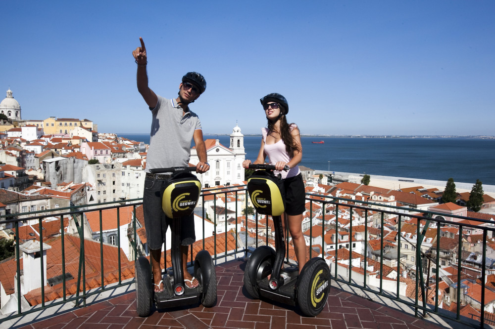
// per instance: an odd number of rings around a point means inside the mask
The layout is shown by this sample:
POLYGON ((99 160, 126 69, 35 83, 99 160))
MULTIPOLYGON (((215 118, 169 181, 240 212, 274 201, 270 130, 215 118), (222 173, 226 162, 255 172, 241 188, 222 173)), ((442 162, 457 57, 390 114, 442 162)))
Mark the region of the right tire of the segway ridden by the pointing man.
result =
POLYGON ((199 251, 196 259, 198 260, 198 265, 195 265, 195 277, 198 278, 199 284, 203 287, 201 305, 212 307, 217 301, 215 265, 210 254, 205 250, 199 251), (207 257, 204 255, 201 257, 200 252, 203 252, 207 257))

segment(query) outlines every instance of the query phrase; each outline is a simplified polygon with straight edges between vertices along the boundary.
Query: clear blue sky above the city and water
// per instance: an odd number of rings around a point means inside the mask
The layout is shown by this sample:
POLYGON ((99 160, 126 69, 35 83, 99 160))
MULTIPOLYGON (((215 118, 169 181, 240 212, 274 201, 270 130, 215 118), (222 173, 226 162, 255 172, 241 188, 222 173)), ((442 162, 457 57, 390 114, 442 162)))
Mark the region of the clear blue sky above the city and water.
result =
POLYGON ((2 2, 0 99, 22 119, 89 119, 148 133, 132 51, 149 86, 191 105, 204 133, 260 133, 279 92, 303 134, 495 135, 495 1, 2 2))

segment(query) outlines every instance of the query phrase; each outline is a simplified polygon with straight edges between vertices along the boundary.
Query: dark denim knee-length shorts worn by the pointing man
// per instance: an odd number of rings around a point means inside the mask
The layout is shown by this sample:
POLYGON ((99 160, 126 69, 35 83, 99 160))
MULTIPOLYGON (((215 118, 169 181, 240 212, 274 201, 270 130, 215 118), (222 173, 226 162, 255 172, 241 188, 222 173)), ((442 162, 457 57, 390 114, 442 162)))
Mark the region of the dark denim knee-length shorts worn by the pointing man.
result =
MULTIPOLYGON (((143 212, 145 216, 146 239, 148 248, 161 249, 171 218, 165 216, 161 207, 161 197, 166 179, 145 178, 143 194, 143 212)), ((181 245, 188 246, 196 241, 194 214, 181 218, 181 245)))

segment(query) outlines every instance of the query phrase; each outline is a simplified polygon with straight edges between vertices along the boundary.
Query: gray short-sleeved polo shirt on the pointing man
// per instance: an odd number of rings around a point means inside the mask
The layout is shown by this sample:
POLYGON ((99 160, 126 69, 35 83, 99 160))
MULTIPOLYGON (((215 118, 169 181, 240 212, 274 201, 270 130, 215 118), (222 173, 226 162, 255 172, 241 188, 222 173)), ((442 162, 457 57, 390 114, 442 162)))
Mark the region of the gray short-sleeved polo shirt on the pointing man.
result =
POLYGON ((189 111, 183 116, 183 109, 175 99, 158 96, 151 114, 146 172, 153 168, 188 165, 194 131, 201 129, 196 113, 189 111))

